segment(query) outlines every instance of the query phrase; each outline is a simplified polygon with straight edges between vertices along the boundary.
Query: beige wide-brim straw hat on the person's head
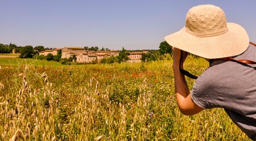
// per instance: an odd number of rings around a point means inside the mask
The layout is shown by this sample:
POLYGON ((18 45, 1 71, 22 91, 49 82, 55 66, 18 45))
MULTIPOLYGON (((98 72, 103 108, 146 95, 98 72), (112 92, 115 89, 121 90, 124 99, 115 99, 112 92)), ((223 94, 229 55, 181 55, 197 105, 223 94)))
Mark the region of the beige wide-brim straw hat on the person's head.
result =
POLYGON ((185 27, 164 39, 175 48, 209 59, 232 57, 249 46, 245 29, 236 23, 226 23, 224 11, 214 5, 192 7, 185 27))

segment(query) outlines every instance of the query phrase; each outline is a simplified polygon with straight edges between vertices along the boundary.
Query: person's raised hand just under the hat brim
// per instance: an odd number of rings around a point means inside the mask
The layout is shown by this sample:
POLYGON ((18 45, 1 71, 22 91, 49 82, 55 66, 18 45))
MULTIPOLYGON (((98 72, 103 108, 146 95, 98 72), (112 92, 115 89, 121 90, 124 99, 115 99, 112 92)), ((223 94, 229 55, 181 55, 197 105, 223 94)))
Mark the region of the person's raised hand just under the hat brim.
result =
POLYGON ((185 62, 185 59, 188 57, 188 53, 182 50, 182 58, 181 58, 181 64, 180 64, 180 57, 181 57, 181 51, 178 48, 172 48, 173 55, 173 67, 179 68, 179 65, 181 69, 183 69, 183 63, 185 62))

